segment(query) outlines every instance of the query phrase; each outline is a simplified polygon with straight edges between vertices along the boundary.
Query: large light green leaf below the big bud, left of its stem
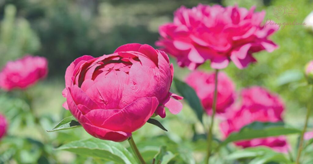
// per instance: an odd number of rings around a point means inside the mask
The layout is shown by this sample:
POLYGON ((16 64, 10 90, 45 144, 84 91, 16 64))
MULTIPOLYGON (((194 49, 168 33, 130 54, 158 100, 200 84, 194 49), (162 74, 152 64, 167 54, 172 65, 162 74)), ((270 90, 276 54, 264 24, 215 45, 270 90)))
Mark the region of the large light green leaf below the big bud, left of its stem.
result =
POLYGON ((97 138, 74 141, 58 147, 87 157, 95 157, 115 163, 138 163, 134 156, 118 142, 105 141, 97 138))

